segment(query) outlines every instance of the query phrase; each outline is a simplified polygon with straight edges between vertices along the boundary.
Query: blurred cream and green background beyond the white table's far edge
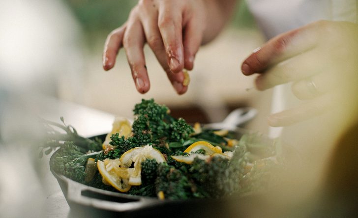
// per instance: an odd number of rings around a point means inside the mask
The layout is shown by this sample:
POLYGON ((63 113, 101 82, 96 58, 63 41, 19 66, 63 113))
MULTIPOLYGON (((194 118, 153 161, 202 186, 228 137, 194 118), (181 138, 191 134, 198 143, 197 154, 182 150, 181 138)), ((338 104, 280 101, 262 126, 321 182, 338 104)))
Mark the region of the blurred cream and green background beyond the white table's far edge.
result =
POLYGON ((2 1, 0 71, 6 90, 50 94, 126 117, 142 98, 154 98, 189 122, 220 121, 232 109, 255 106, 258 98, 270 102, 265 94, 246 91, 253 78, 240 73, 241 61, 263 42, 244 1, 225 31, 199 51, 189 90, 182 96, 147 46, 151 89, 145 95, 136 92, 124 51, 114 69, 101 67, 106 36, 125 22, 137 1, 2 1))

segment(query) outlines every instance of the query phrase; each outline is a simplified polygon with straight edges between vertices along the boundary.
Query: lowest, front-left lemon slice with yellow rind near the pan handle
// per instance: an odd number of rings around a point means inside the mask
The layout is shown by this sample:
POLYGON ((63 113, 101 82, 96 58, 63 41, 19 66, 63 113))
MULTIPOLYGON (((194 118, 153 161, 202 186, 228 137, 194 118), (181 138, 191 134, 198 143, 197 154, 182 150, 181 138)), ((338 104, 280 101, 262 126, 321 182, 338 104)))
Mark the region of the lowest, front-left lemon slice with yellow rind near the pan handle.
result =
POLYGON ((128 169, 120 168, 119 165, 117 165, 117 163, 119 163, 117 160, 118 159, 106 159, 104 161, 97 161, 97 168, 104 182, 120 192, 127 192, 131 187, 128 183, 130 172, 128 169))

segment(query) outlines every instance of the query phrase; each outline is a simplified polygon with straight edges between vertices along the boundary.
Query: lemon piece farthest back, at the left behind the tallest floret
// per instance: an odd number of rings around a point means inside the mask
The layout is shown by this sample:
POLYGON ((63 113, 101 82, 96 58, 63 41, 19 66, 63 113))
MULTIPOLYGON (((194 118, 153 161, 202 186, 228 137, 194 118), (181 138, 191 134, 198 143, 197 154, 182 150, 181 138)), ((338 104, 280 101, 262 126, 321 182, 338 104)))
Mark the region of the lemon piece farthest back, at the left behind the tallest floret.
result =
POLYGON ((112 134, 119 133, 119 136, 124 136, 127 138, 132 133, 132 127, 129 123, 129 121, 123 117, 116 117, 115 121, 112 124, 112 131, 111 133, 107 134, 103 144, 102 148, 103 150, 106 150, 107 147, 111 146, 109 143, 111 142, 111 136, 112 134))

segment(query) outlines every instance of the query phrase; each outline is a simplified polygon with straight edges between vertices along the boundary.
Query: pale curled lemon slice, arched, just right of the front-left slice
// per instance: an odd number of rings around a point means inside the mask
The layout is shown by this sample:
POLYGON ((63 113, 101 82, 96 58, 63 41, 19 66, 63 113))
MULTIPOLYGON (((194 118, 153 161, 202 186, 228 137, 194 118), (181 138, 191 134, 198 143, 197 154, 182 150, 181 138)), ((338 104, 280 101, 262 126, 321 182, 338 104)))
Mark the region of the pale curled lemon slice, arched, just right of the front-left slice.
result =
POLYGON ((154 159, 157 163, 165 162, 163 154, 154 149, 151 145, 144 147, 132 148, 122 154, 120 163, 122 167, 130 167, 134 162, 133 172, 129 176, 129 184, 139 186, 142 184, 141 179, 141 163, 146 159, 154 159))

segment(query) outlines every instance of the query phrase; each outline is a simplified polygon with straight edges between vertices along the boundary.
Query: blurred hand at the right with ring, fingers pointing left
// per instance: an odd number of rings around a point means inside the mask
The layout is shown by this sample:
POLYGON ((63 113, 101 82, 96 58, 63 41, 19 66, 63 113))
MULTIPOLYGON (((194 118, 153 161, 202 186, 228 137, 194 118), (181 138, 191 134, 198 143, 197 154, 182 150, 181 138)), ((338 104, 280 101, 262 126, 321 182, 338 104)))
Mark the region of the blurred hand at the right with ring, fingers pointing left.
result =
POLYGON ((260 74, 259 90, 293 82, 292 92, 303 103, 269 116, 271 126, 287 126, 332 109, 342 119, 357 114, 357 60, 358 26, 319 21, 272 38, 244 60, 241 70, 260 74))

